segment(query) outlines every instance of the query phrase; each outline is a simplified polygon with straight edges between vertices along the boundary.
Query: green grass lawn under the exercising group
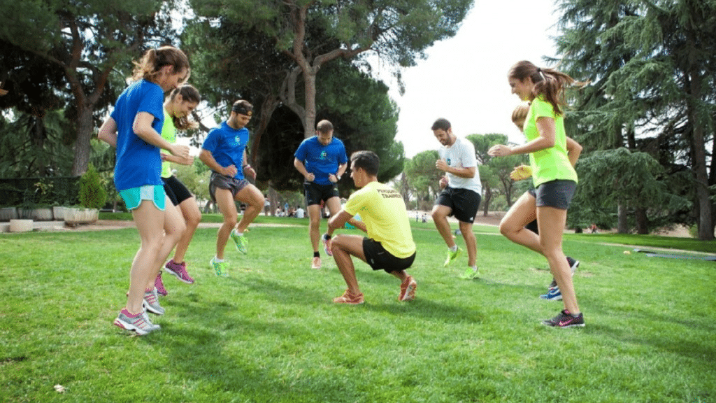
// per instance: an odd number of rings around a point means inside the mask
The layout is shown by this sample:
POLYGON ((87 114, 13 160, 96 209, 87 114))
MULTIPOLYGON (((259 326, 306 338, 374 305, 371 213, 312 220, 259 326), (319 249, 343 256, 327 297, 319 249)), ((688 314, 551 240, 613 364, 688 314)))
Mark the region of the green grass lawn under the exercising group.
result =
POLYGON ((465 254, 442 267, 434 227, 412 222, 416 300, 359 262, 366 303, 345 306, 332 259, 310 269, 306 225, 259 217, 248 255, 228 245, 230 278, 208 268, 216 229, 199 229, 196 283, 165 276, 162 329, 142 337, 112 326, 136 229, 1 234, 0 403, 716 403, 716 262, 605 245, 716 242, 566 235, 586 327, 556 329, 539 323, 562 309, 538 299, 546 261, 494 227, 475 227, 481 278, 460 280, 465 254))

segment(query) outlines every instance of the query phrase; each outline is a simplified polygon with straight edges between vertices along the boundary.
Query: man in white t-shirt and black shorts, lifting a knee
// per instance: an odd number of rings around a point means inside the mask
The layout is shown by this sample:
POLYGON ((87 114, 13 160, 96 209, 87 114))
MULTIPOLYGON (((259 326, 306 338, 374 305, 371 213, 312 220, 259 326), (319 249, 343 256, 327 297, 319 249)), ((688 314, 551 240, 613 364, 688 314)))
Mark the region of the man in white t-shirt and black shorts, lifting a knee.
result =
POLYGON ((442 192, 432 207, 432 221, 437 232, 448 245, 448 257, 445 266, 450 265, 458 255, 460 248, 453 240, 448 217, 455 216, 460 224, 460 232, 468 250, 468 269, 462 278, 473 279, 478 276, 477 255, 478 244, 473 234, 475 214, 480 207, 482 185, 475 158, 475 146, 465 138, 458 138, 447 119, 437 119, 432 124, 432 133, 442 147, 437 152, 440 159, 435 161, 435 168, 445 172, 440 178, 442 192))

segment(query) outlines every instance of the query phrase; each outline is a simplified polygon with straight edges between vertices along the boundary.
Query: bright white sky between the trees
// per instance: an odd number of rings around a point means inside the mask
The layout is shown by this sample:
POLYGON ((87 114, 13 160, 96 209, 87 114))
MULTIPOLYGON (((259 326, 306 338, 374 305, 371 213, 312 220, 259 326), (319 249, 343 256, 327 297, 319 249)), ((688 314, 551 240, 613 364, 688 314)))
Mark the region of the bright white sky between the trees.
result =
POLYGON ((396 140, 405 156, 435 149, 440 144, 430 131, 437 118, 447 118, 458 136, 503 133, 523 143, 511 121, 519 103, 507 83, 509 68, 519 60, 545 66, 544 56, 554 57, 558 14, 553 0, 475 0, 455 37, 427 50, 427 60, 403 72, 405 95, 384 80, 400 108, 396 140))

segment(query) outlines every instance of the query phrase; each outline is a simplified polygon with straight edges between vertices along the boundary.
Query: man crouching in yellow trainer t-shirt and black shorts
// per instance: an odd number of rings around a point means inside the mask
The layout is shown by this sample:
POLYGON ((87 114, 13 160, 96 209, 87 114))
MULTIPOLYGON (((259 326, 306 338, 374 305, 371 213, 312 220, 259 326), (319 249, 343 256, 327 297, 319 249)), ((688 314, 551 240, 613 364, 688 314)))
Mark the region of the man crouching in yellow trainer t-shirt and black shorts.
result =
POLYGON ((380 159, 374 152, 356 151, 350 159, 351 178, 359 190, 330 219, 328 232, 323 235, 326 252, 333 255, 348 286, 345 293, 334 298, 333 302, 364 302, 351 256, 367 262, 373 270, 385 270, 400 279, 398 300, 412 300, 417 283, 405 269, 415 260, 415 242, 405 202, 400 193, 378 181, 380 159), (360 214, 362 222, 353 218, 356 214, 360 214), (340 234, 332 238, 333 232, 346 222, 366 232, 368 237, 340 234))

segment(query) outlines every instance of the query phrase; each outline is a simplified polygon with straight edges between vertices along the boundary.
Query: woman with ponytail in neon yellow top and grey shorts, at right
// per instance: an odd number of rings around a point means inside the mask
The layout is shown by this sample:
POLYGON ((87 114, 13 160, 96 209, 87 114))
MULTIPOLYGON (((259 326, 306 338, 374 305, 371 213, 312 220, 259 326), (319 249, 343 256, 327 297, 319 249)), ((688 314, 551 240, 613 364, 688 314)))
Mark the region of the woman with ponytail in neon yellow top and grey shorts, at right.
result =
POLYGON ((498 144, 490 148, 490 156, 529 154, 532 179, 536 187, 536 211, 539 235, 532 233, 523 240, 531 250, 542 253, 562 293, 564 310, 543 321, 547 326, 584 326, 577 305, 571 269, 562 252, 562 232, 577 175, 567 155, 563 117, 563 91, 567 85, 581 84, 569 75, 552 69, 541 69, 521 61, 511 67, 508 82, 512 93, 529 101, 530 109, 524 125, 527 143, 521 146, 498 144))

